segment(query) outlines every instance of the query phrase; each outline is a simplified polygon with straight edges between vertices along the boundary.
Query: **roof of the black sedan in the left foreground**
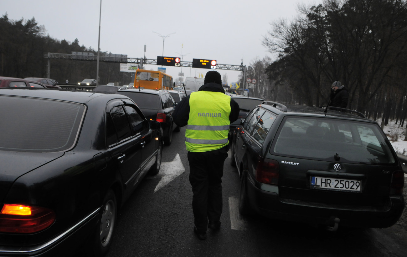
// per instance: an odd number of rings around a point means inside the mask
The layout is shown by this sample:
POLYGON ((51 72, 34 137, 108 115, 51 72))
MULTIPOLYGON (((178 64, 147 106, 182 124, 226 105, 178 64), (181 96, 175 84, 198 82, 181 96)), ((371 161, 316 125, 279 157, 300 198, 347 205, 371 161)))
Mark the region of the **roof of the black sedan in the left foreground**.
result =
POLYGON ((79 90, 50 90, 42 89, 38 87, 13 87, 13 88, 3 88, 0 89, 0 96, 21 96, 21 97, 35 97, 35 98, 45 98, 61 101, 76 102, 81 104, 86 104, 95 98, 107 98, 106 100, 116 99, 116 98, 128 98, 123 95, 116 94, 102 94, 94 93, 92 91, 79 91, 79 90))

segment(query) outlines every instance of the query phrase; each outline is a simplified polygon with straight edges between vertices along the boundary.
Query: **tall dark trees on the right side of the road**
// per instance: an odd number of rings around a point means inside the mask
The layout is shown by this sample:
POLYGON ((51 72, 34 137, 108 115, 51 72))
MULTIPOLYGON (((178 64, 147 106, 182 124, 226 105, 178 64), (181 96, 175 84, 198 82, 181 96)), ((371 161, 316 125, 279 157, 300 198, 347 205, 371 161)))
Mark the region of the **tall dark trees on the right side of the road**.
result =
POLYGON ((271 23, 263 46, 278 58, 250 63, 246 77, 258 81, 254 96, 327 105, 331 84, 341 81, 349 90, 349 109, 374 120, 383 115, 385 124, 392 119, 403 125, 406 1, 324 0, 317 6, 300 6, 299 11, 292 22, 271 23))

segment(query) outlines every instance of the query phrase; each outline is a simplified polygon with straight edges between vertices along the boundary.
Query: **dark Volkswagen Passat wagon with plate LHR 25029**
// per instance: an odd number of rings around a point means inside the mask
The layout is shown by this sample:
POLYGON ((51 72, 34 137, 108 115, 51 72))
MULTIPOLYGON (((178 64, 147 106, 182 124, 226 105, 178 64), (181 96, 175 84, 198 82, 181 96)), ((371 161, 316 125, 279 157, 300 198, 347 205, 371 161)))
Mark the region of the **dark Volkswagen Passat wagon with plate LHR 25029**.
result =
POLYGON ((264 102, 249 113, 231 150, 239 211, 333 231, 395 224, 405 206, 396 153, 376 122, 342 111, 264 102))

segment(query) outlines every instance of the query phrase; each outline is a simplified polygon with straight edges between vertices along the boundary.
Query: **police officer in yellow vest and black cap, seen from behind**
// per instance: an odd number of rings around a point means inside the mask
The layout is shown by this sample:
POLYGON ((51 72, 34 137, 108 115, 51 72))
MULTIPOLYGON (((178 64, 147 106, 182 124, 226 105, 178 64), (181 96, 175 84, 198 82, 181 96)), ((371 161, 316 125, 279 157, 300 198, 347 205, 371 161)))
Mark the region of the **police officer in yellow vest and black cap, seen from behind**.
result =
POLYGON ((239 105, 225 95, 217 71, 206 73, 204 85, 179 102, 173 113, 175 124, 186 125, 194 232, 200 240, 206 239, 207 228, 221 226, 223 163, 228 157, 229 125, 238 116, 239 105))

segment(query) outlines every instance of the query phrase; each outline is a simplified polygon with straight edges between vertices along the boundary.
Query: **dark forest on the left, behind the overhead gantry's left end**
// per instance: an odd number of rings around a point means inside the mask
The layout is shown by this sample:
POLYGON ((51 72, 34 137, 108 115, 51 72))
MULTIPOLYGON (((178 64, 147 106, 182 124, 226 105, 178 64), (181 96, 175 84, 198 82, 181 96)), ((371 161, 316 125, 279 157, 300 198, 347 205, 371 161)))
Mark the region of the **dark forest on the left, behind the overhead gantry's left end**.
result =
MULTIPOLYGON (((9 20, 7 13, 0 17, 0 76, 26 78, 47 77, 47 58, 44 53, 92 52, 97 50, 79 45, 79 40, 61 41, 45 35, 44 26, 35 18, 24 21, 9 20)), ((107 52, 101 52, 100 55, 107 52)), ((84 78, 96 79, 96 61, 72 61, 51 59, 51 78, 65 83, 77 83, 84 78)), ((99 62, 100 84, 118 82, 120 85, 131 82, 131 73, 120 72, 120 63, 99 62)))

